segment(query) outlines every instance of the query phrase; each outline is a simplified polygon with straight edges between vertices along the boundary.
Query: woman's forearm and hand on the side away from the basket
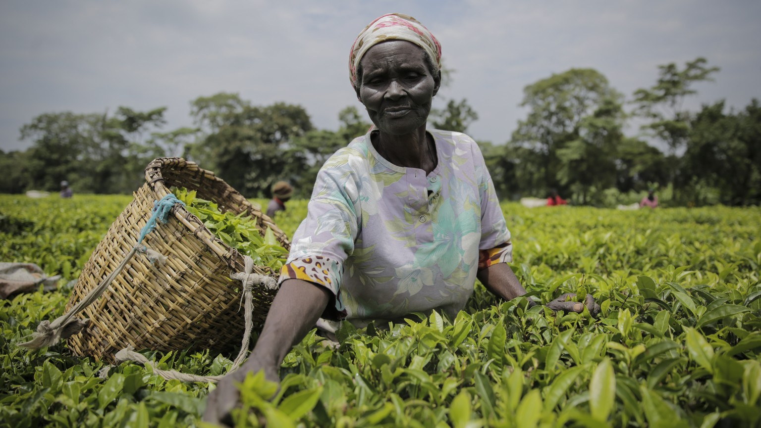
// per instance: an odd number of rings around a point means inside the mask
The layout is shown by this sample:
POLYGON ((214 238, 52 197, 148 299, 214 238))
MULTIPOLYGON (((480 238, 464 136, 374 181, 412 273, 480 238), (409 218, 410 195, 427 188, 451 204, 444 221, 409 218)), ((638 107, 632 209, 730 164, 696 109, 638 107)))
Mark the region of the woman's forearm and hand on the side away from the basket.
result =
MULTIPOLYGON (((507 263, 495 263, 486 268, 481 268, 478 270, 476 277, 486 287, 486 290, 491 291, 502 300, 513 300, 517 296, 526 294, 526 289, 521 285, 521 281, 518 281, 518 278, 507 263)), ((547 303, 546 306, 553 311, 564 312, 584 312, 584 306, 587 306, 587 310, 592 315, 597 315, 600 312, 600 305, 594 302, 594 297, 591 294, 587 294, 584 303, 566 302, 568 297, 574 296, 576 296, 574 293, 565 293, 556 300, 547 303)), ((537 305, 537 302, 530 297, 528 301, 529 306, 537 305)))

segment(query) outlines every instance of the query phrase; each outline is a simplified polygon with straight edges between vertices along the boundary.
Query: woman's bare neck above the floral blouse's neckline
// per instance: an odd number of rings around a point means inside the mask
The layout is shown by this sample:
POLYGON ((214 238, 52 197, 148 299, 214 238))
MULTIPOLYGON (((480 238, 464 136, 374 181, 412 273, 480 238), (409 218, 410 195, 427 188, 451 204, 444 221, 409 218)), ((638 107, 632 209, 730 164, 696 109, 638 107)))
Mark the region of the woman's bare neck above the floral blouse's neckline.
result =
POLYGON ((418 168, 426 174, 436 168, 436 146, 431 135, 425 132, 425 125, 412 134, 390 135, 379 130, 372 132, 370 138, 378 154, 396 166, 418 168))

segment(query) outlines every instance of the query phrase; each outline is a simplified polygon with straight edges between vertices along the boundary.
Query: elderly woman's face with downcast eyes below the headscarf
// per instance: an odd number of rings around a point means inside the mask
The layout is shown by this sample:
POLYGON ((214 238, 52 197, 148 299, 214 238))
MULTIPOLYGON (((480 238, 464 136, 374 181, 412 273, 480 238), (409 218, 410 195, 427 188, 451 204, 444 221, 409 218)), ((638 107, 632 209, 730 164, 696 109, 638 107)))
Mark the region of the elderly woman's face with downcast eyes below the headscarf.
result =
POLYGON ((405 135, 425 125, 441 75, 431 75, 422 49, 406 40, 378 43, 361 68, 357 96, 381 132, 405 135))

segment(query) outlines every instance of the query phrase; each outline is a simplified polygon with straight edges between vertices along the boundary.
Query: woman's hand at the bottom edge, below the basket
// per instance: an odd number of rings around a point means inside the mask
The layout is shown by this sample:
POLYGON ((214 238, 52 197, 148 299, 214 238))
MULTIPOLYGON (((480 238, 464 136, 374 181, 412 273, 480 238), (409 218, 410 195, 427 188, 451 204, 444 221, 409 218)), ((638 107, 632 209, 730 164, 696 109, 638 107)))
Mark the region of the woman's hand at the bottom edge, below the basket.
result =
MULTIPOLYGON (((251 361, 251 360, 249 360, 251 361)), ((257 373, 264 370, 265 379, 270 382, 280 383, 278 370, 272 366, 260 366, 253 361, 250 366, 241 366, 232 373, 228 373, 218 383, 217 388, 209 392, 206 398, 206 410, 203 413, 203 421, 218 425, 233 426, 231 411, 240 405, 240 390, 238 384, 242 383, 248 373, 257 373)), ((278 388, 279 385, 278 385, 278 388)))

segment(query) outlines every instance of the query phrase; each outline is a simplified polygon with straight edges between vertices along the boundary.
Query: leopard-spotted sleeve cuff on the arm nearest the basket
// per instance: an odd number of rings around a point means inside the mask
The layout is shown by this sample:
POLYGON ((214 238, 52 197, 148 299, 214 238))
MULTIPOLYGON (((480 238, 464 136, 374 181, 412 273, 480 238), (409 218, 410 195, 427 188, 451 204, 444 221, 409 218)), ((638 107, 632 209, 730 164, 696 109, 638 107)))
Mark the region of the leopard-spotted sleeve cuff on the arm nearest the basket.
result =
POLYGON ((300 279, 327 288, 335 296, 334 304, 328 304, 322 318, 344 319, 346 308, 341 300, 341 277, 343 266, 332 258, 314 255, 295 258, 280 269, 278 284, 287 279, 300 279))

